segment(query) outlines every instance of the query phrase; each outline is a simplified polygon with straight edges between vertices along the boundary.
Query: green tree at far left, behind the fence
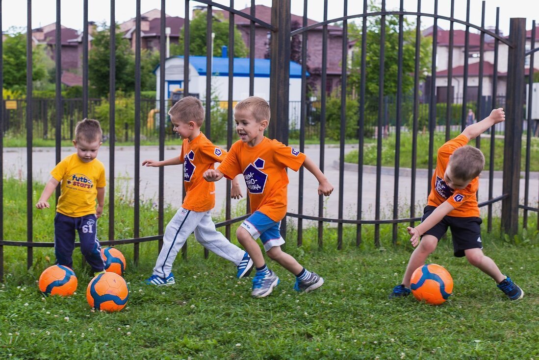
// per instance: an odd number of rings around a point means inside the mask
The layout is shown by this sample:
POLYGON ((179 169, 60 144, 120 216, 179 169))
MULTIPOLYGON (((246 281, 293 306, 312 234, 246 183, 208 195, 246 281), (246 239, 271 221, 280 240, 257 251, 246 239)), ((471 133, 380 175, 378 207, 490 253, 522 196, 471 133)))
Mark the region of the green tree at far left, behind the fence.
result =
MULTIPOLYGON (((42 45, 32 48, 32 81, 44 80, 47 69, 42 45)), ((13 91, 26 89, 26 34, 15 31, 8 35, 3 45, 4 87, 13 91)))

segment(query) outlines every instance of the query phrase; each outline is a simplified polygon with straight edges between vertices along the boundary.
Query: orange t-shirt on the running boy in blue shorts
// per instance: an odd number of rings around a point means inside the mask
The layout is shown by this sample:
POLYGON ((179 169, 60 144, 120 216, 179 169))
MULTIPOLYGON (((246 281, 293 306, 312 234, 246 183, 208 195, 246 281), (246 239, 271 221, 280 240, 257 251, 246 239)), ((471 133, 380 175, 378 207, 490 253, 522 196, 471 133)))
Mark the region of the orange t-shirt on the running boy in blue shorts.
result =
POLYGON ((264 137, 257 146, 249 146, 241 140, 232 144, 218 170, 228 179, 243 173, 251 213, 260 211, 273 221, 281 221, 286 215, 288 200, 286 168, 298 171, 303 161, 305 154, 264 137))

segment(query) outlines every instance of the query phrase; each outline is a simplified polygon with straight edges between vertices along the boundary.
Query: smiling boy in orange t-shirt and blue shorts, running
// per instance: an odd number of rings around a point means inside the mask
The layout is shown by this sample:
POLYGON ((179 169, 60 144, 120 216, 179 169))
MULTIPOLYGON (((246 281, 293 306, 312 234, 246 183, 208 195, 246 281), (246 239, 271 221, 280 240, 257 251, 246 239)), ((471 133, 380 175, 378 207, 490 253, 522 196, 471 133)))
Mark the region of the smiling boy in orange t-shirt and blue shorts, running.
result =
POLYGON ((285 243, 280 235, 280 222, 286 215, 288 176, 286 168, 298 171, 301 166, 313 173, 319 181, 318 193, 328 196, 333 186, 305 154, 277 140, 264 136, 269 123, 269 105, 251 96, 236 105, 234 121, 240 140, 232 144, 226 158, 215 170, 204 173, 204 179, 217 181, 223 176, 233 179, 243 174, 249 199, 251 216, 236 231, 238 241, 253 259, 257 273, 253 279, 253 297, 271 294, 279 278, 266 266, 257 244, 260 238, 267 255, 296 276, 294 289, 309 292, 319 288, 324 279, 301 266, 291 255, 282 251, 285 243))

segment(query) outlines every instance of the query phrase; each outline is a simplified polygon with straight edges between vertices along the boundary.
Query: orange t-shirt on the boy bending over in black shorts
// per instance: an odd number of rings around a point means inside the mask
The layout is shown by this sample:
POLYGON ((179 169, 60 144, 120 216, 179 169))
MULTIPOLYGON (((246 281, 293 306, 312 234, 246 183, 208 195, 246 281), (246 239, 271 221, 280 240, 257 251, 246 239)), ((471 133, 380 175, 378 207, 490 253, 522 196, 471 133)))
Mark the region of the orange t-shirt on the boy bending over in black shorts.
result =
POLYGON ((468 138, 459 135, 449 140, 438 149, 438 159, 436 160, 436 171, 432 175, 431 193, 427 205, 439 206, 444 201, 450 203, 455 209, 451 210, 448 216, 456 217, 479 217, 479 206, 476 193, 479 188, 479 177, 475 177, 464 189, 454 190, 447 186, 444 180, 445 169, 451 154, 459 147, 468 144, 468 138))

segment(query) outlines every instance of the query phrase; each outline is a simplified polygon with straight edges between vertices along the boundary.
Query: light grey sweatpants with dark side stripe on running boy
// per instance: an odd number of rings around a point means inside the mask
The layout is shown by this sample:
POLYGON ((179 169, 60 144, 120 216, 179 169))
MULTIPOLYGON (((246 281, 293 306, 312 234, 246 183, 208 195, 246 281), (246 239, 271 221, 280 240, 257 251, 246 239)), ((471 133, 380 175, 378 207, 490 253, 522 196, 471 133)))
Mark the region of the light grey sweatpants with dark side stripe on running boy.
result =
POLYGON ((192 232, 195 232, 196 240, 204 248, 230 260, 234 265, 238 265, 243 259, 245 251, 232 244, 216 230, 215 224, 211 220, 210 211, 198 213, 179 208, 165 229, 163 248, 154 267, 155 275, 165 278, 170 274, 172 263, 192 232))

